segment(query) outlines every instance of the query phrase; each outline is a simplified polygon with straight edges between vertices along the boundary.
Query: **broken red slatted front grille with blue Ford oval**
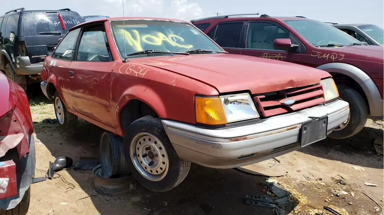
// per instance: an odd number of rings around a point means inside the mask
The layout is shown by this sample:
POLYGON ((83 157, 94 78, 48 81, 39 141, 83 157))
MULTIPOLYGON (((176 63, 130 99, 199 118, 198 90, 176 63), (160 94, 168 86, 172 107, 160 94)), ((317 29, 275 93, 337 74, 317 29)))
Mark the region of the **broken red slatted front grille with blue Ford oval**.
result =
POLYGON ((254 99, 263 117, 310 108, 325 101, 323 85, 320 84, 257 94, 254 95, 254 99), (286 99, 295 99, 295 103, 285 105, 283 102, 286 99))

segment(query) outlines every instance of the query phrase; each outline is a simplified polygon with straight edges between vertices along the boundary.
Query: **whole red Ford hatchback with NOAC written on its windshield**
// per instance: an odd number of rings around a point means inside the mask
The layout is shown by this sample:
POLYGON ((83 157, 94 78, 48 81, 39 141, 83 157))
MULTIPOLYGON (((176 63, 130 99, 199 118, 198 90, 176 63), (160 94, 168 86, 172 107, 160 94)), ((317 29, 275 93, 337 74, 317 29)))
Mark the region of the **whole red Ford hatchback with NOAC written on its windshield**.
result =
POLYGON ((60 125, 81 117, 124 137, 130 171, 153 191, 180 184, 191 162, 235 168, 322 140, 349 114, 328 72, 227 54, 180 20, 79 24, 41 75, 60 125))

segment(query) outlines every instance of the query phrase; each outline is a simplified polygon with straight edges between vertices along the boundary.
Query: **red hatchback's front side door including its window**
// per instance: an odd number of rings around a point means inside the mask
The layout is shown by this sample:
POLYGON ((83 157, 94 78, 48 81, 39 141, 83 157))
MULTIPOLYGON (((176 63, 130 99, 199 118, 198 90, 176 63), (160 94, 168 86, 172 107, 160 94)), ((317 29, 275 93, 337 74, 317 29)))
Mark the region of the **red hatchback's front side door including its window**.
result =
POLYGON ((70 65, 69 87, 76 112, 109 126, 116 125, 111 99, 111 72, 114 65, 104 23, 85 25, 70 65))

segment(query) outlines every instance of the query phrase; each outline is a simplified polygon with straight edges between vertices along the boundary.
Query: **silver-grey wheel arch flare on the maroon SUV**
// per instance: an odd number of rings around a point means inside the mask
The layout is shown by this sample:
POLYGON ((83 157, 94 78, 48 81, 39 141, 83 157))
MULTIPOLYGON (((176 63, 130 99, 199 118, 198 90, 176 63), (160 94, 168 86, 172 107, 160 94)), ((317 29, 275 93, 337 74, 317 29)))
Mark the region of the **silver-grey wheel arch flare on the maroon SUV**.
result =
POLYGON ((317 68, 329 73, 340 73, 352 78, 364 91, 369 103, 369 112, 371 116, 384 116, 384 101, 381 99, 379 89, 373 82, 372 78, 369 77, 363 70, 355 67, 354 65, 334 62, 323 64, 317 68))

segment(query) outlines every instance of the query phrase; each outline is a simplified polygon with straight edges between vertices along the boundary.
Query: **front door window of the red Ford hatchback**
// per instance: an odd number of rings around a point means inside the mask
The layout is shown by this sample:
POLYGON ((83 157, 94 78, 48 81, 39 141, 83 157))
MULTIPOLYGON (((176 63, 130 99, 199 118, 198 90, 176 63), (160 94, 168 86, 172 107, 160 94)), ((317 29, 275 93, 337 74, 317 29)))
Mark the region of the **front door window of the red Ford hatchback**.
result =
POLYGON ((104 24, 84 27, 76 60, 108 62, 109 56, 104 24))

